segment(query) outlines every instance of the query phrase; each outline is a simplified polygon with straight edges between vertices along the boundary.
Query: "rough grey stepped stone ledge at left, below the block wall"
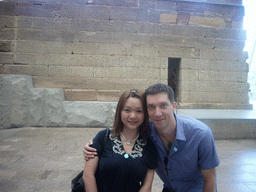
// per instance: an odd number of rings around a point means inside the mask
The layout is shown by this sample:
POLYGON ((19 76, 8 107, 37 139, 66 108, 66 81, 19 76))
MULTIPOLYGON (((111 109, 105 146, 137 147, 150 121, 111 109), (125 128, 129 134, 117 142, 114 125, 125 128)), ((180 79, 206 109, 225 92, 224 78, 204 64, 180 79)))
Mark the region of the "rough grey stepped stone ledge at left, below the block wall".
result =
POLYGON ((31 76, 2 74, 0 83, 0 129, 112 125, 116 102, 64 101, 63 89, 33 88, 31 76))

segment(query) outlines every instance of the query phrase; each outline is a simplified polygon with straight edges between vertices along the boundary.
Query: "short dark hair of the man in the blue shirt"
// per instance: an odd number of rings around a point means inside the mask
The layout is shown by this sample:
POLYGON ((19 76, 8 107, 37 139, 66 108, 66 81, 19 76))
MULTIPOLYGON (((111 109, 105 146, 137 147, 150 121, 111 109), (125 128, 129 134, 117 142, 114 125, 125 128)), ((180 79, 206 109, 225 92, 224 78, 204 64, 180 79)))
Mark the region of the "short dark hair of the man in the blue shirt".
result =
POLYGON ((146 99, 148 95, 156 95, 158 93, 167 93, 168 98, 171 101, 171 103, 173 103, 175 101, 174 92, 173 92, 172 88, 163 83, 157 83, 157 84, 149 86, 146 89, 144 96, 146 99))

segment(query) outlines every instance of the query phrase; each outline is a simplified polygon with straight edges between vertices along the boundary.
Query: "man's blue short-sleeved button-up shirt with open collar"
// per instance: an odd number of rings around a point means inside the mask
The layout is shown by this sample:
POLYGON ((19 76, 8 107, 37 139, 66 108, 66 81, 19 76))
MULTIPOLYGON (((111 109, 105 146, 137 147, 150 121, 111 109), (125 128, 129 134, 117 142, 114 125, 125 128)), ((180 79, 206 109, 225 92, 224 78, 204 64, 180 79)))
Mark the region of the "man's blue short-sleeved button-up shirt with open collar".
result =
POLYGON ((202 191, 200 170, 212 169, 220 164, 212 132, 201 121, 179 115, 175 117, 176 138, 169 154, 150 122, 149 138, 156 145, 160 157, 156 172, 166 188, 180 192, 202 191))

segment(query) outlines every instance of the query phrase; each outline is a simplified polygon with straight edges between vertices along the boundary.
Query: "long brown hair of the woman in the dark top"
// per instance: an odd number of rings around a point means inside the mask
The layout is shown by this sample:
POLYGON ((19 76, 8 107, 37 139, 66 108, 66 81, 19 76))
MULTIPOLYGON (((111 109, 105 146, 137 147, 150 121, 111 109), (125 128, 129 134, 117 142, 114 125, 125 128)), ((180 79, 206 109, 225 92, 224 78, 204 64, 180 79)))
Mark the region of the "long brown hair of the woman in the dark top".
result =
POLYGON ((117 137, 120 135, 120 133, 123 131, 123 122, 121 120, 121 112, 124 108, 124 105, 126 101, 129 98, 137 98, 141 100, 142 107, 143 107, 143 113, 144 113, 144 121, 139 127, 139 133, 142 135, 142 139, 146 141, 148 136, 148 128, 149 128, 149 117, 148 117, 148 111, 146 106, 146 101, 143 97, 143 94, 140 93, 136 89, 132 89, 130 91, 125 91, 118 101, 117 107, 116 107, 116 114, 115 114, 115 121, 113 125, 113 131, 112 131, 112 137, 117 137))

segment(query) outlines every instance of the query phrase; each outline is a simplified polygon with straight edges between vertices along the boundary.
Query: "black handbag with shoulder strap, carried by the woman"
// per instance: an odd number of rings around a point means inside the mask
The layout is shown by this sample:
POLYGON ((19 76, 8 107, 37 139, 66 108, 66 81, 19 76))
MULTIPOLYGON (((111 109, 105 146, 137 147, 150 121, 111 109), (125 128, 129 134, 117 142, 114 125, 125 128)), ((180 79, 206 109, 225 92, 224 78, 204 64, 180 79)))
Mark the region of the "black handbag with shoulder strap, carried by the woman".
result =
MULTIPOLYGON (((105 144, 107 142, 110 130, 109 128, 106 129, 106 135, 103 140, 103 147, 105 147, 105 144)), ((84 171, 81 171, 74 179, 71 181, 71 192, 85 192, 84 188, 84 180, 83 180, 83 173, 84 171)))

